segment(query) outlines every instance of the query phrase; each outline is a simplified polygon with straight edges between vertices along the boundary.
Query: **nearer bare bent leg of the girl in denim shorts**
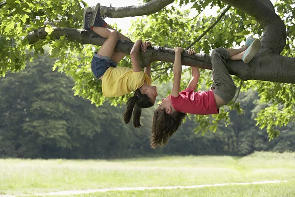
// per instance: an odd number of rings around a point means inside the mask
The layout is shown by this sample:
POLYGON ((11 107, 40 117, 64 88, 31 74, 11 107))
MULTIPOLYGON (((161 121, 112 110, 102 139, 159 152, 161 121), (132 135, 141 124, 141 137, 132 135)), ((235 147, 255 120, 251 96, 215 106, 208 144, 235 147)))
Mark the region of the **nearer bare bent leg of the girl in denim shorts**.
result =
POLYGON ((100 47, 97 54, 101 56, 112 57, 119 39, 119 33, 116 30, 111 30, 103 27, 93 27, 92 31, 97 33, 101 37, 107 38, 107 40, 100 47))

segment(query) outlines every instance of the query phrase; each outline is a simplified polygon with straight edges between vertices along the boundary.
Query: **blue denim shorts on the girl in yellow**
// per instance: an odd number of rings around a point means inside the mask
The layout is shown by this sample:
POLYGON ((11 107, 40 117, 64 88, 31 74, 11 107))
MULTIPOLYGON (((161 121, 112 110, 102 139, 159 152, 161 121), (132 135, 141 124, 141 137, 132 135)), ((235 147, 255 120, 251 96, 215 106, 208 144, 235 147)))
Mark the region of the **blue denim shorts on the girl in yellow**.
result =
POLYGON ((111 57, 93 54, 91 61, 91 70, 96 78, 99 79, 109 67, 117 67, 117 63, 111 60, 111 57))

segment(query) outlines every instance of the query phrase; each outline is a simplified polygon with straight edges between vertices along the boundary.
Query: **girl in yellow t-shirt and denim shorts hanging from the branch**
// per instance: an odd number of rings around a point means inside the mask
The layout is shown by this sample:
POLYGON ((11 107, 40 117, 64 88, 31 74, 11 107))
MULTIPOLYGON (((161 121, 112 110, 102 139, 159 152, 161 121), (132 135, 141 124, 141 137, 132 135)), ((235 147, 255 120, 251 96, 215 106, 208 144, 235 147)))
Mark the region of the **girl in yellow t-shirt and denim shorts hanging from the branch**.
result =
POLYGON ((94 76, 102 80, 103 95, 105 97, 120 97, 135 91, 134 96, 127 100, 124 121, 128 124, 133 114, 133 126, 141 127, 141 108, 153 106, 158 96, 157 87, 150 85, 150 65, 145 67, 145 72, 143 72, 138 61, 140 48, 147 51, 147 47, 151 43, 137 40, 130 52, 132 68, 117 67, 117 64, 125 56, 124 53, 114 51, 118 39, 131 40, 104 21, 100 15, 100 3, 97 3, 93 9, 91 7, 85 8, 83 29, 92 30, 101 37, 107 38, 99 51, 94 53, 91 61, 91 70, 94 76))

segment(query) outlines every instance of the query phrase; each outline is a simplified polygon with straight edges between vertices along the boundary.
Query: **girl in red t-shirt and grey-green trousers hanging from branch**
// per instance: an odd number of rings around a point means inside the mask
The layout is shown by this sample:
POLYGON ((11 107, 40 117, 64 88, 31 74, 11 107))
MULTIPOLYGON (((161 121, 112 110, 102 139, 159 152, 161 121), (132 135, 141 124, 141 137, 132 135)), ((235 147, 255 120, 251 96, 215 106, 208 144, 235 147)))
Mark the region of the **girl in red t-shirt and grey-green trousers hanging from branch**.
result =
MULTIPOLYGON (((243 47, 239 49, 214 49, 211 53, 212 79, 211 89, 194 92, 200 77, 199 68, 191 67, 192 79, 185 90, 180 91, 181 53, 183 48, 175 47, 174 80, 171 94, 162 99, 154 110, 151 127, 151 147, 165 146, 169 137, 177 131, 187 113, 207 115, 218 114, 219 108, 229 103, 236 94, 236 86, 229 74, 227 59, 242 60, 249 63, 260 48, 260 40, 248 37, 243 47)), ((189 55, 196 53, 189 49, 189 55)))

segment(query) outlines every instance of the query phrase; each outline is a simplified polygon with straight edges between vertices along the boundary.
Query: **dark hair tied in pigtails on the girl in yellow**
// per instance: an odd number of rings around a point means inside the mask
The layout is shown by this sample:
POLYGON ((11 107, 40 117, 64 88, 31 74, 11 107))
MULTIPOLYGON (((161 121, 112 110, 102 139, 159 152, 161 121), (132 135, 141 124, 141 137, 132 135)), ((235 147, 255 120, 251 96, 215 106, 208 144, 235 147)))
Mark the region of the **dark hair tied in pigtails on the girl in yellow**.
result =
POLYGON ((130 97, 127 100, 126 105, 126 112, 124 113, 125 124, 128 124, 130 122, 131 116, 133 114, 133 127, 139 128, 141 127, 141 109, 151 107, 154 105, 154 103, 150 101, 148 95, 142 94, 140 89, 137 89, 133 97, 130 97))

